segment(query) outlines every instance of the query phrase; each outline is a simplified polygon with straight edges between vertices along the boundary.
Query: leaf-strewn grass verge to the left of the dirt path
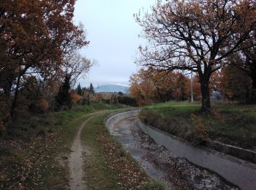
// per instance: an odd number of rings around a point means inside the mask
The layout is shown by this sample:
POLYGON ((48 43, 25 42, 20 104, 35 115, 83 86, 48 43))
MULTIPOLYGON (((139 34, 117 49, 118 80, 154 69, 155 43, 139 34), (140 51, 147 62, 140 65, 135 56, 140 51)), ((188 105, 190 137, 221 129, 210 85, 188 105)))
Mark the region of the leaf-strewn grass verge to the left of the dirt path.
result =
POLYGON ((123 105, 93 104, 59 113, 20 113, 0 137, 0 189, 69 189, 75 133, 90 113, 123 105), (61 160, 61 161, 60 161, 61 160))

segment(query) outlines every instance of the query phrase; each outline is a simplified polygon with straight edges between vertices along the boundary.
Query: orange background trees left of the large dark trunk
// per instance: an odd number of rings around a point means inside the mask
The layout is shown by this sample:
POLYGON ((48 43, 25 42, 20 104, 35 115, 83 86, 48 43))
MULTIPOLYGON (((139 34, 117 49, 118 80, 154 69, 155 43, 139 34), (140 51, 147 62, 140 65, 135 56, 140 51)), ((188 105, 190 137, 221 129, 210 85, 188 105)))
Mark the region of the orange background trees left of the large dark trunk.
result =
MULTIPOLYGON (((170 100, 187 100, 190 96, 190 80, 180 72, 159 71, 149 67, 130 77, 130 96, 140 105, 170 100)), ((193 82, 195 99, 200 99, 200 84, 193 82)))

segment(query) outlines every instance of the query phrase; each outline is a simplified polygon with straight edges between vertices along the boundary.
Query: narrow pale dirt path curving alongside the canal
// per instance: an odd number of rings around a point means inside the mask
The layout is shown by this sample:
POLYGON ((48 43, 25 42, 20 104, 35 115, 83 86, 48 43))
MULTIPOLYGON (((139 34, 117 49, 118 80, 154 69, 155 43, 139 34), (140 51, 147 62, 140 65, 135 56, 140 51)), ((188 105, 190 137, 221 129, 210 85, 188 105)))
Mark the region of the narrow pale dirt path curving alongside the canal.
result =
POLYGON ((69 155, 69 186, 71 190, 87 189, 86 183, 83 181, 83 152, 86 152, 86 147, 81 143, 80 134, 84 126, 86 126, 86 123, 91 120, 91 118, 94 118, 95 115, 97 114, 93 114, 80 126, 71 147, 71 153, 69 155))

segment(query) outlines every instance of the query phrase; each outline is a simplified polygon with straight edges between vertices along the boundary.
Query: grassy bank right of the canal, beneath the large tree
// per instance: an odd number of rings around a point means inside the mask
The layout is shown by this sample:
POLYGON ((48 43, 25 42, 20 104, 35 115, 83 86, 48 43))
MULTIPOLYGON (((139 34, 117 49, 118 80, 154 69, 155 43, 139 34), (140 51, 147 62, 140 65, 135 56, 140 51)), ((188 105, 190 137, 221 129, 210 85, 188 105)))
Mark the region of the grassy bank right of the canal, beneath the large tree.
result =
POLYGON ((200 113, 200 104, 167 102, 144 107, 146 123, 196 143, 218 140, 256 150, 256 105, 214 105, 211 113, 200 113))

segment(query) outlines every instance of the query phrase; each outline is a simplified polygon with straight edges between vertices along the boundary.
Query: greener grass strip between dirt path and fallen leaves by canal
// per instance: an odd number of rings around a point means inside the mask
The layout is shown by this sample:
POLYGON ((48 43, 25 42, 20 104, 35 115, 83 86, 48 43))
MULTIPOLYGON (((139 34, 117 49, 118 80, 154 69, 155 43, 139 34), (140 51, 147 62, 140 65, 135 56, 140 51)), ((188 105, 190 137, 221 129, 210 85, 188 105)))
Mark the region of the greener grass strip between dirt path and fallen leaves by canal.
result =
POLYGON ((105 128, 102 126, 103 119, 102 116, 92 118, 81 134, 83 145, 89 151, 89 155, 85 155, 86 164, 84 166, 85 180, 89 189, 117 189, 118 187, 116 175, 109 170, 108 164, 105 163, 98 141, 99 133, 105 132, 105 128))

